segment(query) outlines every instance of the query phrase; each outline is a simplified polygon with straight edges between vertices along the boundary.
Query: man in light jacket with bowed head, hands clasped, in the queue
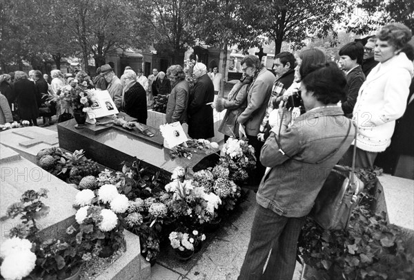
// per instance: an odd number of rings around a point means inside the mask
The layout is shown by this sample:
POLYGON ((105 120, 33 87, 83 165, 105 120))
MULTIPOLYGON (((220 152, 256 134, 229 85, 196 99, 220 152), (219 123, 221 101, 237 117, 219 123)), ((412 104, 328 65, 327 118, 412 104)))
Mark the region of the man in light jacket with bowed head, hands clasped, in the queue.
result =
POLYGON ((257 140, 257 134, 266 113, 273 83, 275 82, 275 75, 270 73, 255 55, 246 55, 241 64, 242 71, 247 76, 253 77, 253 82, 248 89, 248 105, 243 113, 239 115, 237 121, 240 124, 239 131, 246 131, 249 144, 255 148, 255 156, 257 158, 256 169, 249 176, 251 185, 259 185, 266 168, 259 161, 263 142, 257 140))

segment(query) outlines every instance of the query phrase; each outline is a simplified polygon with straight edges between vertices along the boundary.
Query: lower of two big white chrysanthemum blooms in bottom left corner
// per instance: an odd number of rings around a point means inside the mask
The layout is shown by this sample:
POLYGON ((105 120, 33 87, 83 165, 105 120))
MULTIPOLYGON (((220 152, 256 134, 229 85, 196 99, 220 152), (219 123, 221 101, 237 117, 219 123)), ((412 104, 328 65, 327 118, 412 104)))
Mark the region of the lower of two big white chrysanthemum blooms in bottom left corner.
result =
POLYGON ((0 273, 4 279, 22 279, 28 276, 36 265, 36 255, 30 250, 14 252, 1 263, 0 273))

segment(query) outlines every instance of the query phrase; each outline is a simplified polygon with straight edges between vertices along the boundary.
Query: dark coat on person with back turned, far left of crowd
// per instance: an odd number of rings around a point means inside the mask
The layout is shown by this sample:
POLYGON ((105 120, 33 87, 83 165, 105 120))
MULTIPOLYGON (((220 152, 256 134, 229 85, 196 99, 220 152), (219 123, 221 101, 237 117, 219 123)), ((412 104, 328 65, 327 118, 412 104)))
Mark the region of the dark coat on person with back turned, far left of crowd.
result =
POLYGON ((39 107, 37 106, 37 90, 34 82, 22 78, 14 82, 14 94, 19 107, 21 120, 32 120, 39 118, 39 107))

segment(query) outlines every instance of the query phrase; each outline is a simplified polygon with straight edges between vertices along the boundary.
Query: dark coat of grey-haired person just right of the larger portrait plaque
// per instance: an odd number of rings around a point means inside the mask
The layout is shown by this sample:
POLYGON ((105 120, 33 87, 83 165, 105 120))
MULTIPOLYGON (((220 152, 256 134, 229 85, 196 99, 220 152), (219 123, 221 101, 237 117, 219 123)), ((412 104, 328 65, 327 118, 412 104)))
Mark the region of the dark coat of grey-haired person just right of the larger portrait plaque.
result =
POLYGON ((146 124, 148 117, 146 106, 146 91, 136 82, 124 95, 124 111, 132 118, 136 118, 141 124, 146 124))

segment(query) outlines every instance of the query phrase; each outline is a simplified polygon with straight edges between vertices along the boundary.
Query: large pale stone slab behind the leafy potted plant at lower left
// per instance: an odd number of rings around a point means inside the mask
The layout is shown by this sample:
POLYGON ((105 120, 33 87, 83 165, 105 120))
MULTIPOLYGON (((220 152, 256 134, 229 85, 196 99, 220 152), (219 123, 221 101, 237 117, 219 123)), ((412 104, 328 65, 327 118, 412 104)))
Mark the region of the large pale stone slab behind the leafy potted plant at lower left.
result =
MULTIPOLYGON (((7 151, 8 148, 3 147, 2 150, 7 151)), ((7 153, 11 154, 13 151, 7 153)), ((49 191, 48 198, 43 198, 42 201, 50 207, 50 213, 37 221, 41 229, 41 238, 64 236, 67 227, 75 223, 75 209, 72 204, 78 190, 26 158, 1 163, 0 215, 6 214, 9 205, 19 202, 23 192, 29 189, 39 191, 41 188, 49 191)), ((0 222, 0 243, 8 236, 11 227, 18 223, 19 218, 0 222)))

